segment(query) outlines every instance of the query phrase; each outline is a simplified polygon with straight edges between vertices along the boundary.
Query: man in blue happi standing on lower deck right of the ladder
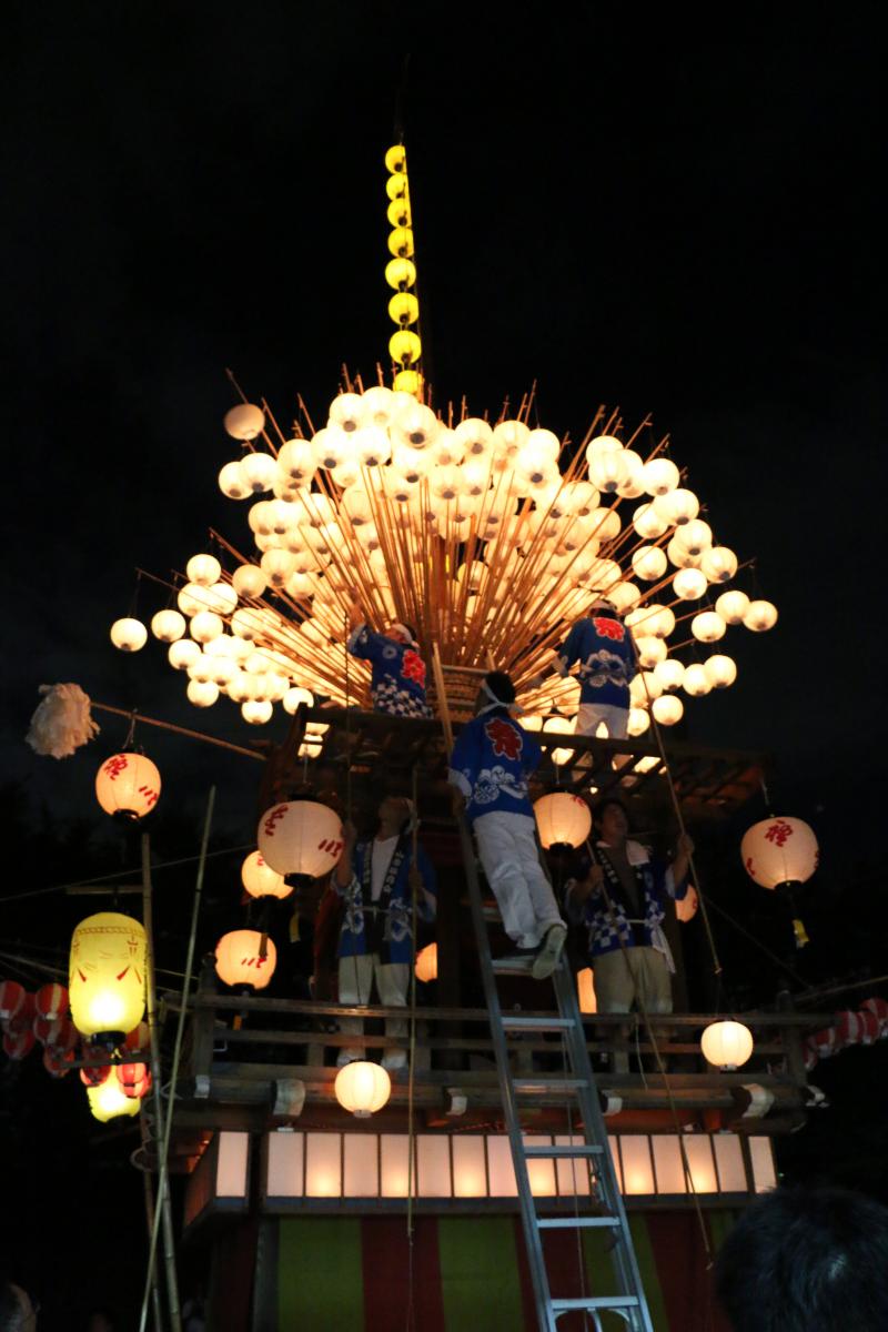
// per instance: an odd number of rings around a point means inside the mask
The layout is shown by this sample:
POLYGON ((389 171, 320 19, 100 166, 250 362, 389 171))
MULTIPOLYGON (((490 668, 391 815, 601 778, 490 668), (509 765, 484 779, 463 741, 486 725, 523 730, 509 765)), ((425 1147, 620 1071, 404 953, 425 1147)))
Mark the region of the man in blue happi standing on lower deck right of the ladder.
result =
MULTIPOLYGON (((598 836, 587 843, 576 878, 566 884, 570 920, 588 930, 588 952, 599 1012, 672 1012, 672 954, 663 934, 666 903, 688 890, 694 843, 679 839, 671 864, 652 860, 628 836, 626 806, 608 797, 595 810, 598 836)), ((616 1072, 628 1056, 615 1056, 616 1072)))

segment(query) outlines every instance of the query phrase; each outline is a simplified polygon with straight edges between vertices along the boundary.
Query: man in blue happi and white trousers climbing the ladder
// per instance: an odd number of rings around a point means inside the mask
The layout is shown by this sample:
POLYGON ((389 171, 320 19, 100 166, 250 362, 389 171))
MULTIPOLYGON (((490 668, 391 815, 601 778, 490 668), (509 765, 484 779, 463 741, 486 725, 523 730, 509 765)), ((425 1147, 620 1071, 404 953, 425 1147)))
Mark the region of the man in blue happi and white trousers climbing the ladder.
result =
POLYGON ((542 758, 537 741, 510 713, 515 689, 490 671, 450 757, 454 810, 465 810, 478 855, 499 904, 503 928, 522 951, 535 951, 533 975, 558 966, 567 927, 546 878, 527 779, 542 758))

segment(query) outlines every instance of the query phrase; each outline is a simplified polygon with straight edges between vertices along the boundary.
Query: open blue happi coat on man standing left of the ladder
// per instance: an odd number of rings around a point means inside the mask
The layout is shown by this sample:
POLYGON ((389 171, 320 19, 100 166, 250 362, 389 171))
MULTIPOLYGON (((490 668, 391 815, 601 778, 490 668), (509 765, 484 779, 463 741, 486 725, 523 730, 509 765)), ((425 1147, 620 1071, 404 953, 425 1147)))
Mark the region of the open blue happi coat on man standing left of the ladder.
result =
MULTIPOLYGON (((395 846, 382 880, 379 899, 373 902, 371 886, 373 839, 358 842, 351 858, 351 880, 342 888, 333 875, 333 887, 345 898, 345 915, 339 930, 338 955, 363 958, 378 952, 379 962, 413 962, 413 890, 410 864, 413 846, 405 834, 395 846)), ((422 888, 417 894, 417 918, 425 923, 434 920, 434 896, 438 891, 431 860, 417 847, 417 868, 422 875, 422 888), (422 890, 426 890, 425 892, 422 890), (429 902, 426 892, 431 895, 429 902)))

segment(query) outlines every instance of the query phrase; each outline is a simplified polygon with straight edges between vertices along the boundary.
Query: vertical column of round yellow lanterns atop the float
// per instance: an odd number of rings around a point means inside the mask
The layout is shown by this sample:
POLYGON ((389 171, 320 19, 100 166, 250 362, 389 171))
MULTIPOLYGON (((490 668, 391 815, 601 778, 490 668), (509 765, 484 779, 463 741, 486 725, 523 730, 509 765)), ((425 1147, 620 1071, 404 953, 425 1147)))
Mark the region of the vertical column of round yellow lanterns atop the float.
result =
POLYGON ((389 338, 394 378, 391 386, 422 400, 422 342, 419 341, 419 301, 417 300, 417 265, 414 262, 413 214, 407 181, 407 153, 403 144, 394 144, 386 156, 389 170, 386 193, 387 218, 391 224, 386 265, 386 282, 394 288, 389 316, 397 333, 389 338))

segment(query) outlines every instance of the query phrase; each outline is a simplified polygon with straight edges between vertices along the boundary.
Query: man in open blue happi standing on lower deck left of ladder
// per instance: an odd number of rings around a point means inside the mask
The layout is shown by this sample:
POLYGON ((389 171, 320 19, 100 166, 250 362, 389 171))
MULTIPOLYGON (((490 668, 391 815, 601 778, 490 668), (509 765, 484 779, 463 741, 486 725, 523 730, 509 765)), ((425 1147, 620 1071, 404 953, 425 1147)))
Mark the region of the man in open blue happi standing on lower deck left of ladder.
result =
MULTIPOLYGON (((435 918, 435 871, 421 846, 413 858, 413 802, 387 795, 379 805, 375 836, 359 840, 353 823, 343 826, 345 844, 333 871, 333 887, 345 898, 339 931, 339 1003, 366 1004, 375 980, 379 1003, 403 1008, 407 1003, 413 966, 413 902, 417 918, 435 918)), ((341 1018, 339 1030, 361 1035, 361 1018, 341 1018)), ((387 1018, 386 1036, 401 1038, 407 1023, 387 1018)), ((366 1058, 359 1048, 339 1052, 342 1067, 366 1058)), ((403 1068, 406 1052, 387 1050, 383 1068, 403 1068)))

